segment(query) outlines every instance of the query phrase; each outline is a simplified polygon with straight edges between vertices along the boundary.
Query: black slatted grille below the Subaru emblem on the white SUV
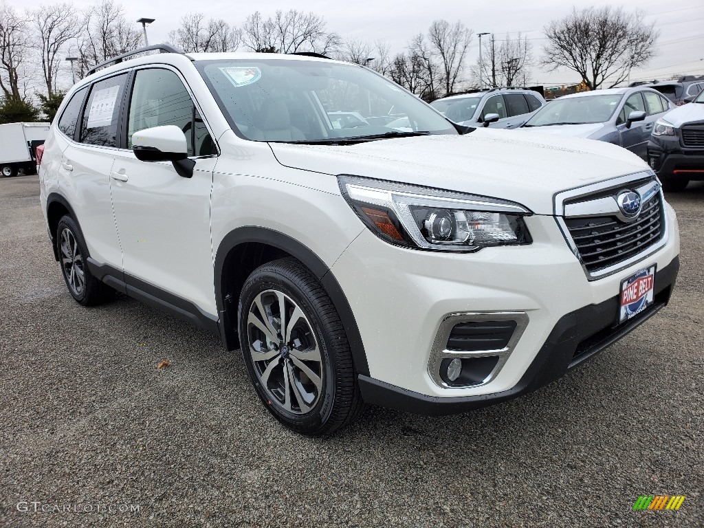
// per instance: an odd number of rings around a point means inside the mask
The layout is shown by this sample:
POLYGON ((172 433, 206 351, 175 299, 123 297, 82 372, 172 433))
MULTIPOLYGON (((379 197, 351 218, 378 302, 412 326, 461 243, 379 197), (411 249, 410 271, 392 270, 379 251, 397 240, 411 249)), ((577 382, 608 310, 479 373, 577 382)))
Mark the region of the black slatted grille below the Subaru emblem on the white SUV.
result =
POLYGON ((664 233, 660 194, 643 203, 638 218, 625 223, 614 216, 565 218, 584 267, 590 273, 641 253, 664 233))

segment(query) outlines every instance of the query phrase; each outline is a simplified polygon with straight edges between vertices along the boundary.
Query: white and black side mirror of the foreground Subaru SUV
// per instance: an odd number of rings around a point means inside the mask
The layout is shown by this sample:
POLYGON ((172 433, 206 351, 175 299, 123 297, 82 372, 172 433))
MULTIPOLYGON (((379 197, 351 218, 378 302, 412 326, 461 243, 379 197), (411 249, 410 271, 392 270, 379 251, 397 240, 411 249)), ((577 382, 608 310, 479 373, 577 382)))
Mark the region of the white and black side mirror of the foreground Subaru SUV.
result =
POLYGON ((180 176, 193 176, 196 162, 188 159, 186 135, 176 125, 134 132, 132 151, 139 161, 170 161, 180 176))

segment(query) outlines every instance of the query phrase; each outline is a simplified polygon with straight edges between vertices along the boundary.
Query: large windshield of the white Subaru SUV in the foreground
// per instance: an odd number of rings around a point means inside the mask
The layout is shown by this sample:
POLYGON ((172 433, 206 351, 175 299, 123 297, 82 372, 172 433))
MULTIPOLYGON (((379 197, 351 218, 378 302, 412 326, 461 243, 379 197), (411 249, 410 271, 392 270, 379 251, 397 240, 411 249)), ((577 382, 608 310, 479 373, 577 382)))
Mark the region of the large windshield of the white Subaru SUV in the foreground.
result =
POLYGON ((233 130, 253 141, 458 134, 426 103, 358 65, 257 57, 196 66, 233 130))

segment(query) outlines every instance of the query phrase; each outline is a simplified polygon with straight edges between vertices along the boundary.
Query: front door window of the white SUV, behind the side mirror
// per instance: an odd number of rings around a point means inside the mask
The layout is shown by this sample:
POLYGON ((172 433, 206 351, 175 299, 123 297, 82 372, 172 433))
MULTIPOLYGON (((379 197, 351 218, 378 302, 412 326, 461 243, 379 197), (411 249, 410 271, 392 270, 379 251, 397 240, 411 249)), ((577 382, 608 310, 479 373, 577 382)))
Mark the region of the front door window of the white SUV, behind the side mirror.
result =
POLYGON ((138 70, 127 118, 127 147, 132 148, 134 132, 164 125, 176 125, 186 134, 189 156, 217 153, 179 76, 162 68, 138 70))

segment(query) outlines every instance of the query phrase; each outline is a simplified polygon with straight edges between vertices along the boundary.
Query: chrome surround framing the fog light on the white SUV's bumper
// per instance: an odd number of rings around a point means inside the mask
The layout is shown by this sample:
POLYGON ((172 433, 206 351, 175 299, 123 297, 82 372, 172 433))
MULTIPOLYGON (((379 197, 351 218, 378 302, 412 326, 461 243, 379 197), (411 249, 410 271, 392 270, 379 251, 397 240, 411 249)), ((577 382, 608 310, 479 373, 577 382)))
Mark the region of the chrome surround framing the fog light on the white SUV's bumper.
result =
POLYGON ((489 384, 494 381, 498 373, 508 361, 511 353, 513 353, 518 340, 523 335, 523 332, 528 326, 528 314, 525 312, 463 312, 451 313, 446 315, 440 323, 435 334, 433 346, 430 350, 428 360, 428 374, 441 389, 466 389, 467 387, 479 387, 489 384), (447 341, 455 325, 463 322, 482 322, 482 321, 515 321, 516 328, 513 331, 508 344, 499 350, 482 350, 482 351, 459 351, 448 350, 447 341), (440 376, 440 365, 442 360, 447 358, 486 358, 488 356, 499 356, 498 363, 491 373, 481 382, 465 385, 449 385, 443 381, 440 376))

